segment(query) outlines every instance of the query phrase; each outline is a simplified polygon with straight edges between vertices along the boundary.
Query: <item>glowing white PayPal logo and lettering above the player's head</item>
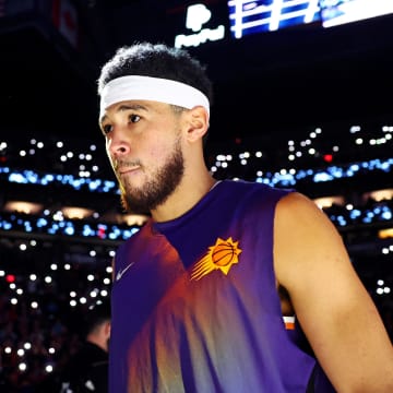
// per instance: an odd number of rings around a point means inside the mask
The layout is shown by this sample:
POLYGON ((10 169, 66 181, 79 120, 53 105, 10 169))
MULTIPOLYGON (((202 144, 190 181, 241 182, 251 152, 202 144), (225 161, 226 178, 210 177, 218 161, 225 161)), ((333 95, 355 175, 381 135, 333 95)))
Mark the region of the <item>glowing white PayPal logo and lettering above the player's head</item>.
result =
POLYGON ((204 4, 193 4, 187 8, 186 27, 193 34, 179 34, 175 37, 175 47, 196 47, 209 40, 215 41, 225 37, 224 25, 215 28, 203 27, 212 17, 212 12, 204 4))

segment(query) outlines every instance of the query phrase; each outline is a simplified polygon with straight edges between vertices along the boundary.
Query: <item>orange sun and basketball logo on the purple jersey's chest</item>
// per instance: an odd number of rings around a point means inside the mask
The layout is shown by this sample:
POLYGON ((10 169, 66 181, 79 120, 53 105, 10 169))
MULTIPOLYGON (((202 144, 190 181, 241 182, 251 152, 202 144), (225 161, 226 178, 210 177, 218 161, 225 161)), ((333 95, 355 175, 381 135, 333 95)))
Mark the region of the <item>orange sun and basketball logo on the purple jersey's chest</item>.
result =
POLYGON ((226 240, 218 238, 216 243, 209 248, 206 254, 195 263, 191 279, 200 279, 218 269, 227 275, 231 265, 239 262, 238 255, 241 249, 238 248, 238 243, 231 237, 226 240))

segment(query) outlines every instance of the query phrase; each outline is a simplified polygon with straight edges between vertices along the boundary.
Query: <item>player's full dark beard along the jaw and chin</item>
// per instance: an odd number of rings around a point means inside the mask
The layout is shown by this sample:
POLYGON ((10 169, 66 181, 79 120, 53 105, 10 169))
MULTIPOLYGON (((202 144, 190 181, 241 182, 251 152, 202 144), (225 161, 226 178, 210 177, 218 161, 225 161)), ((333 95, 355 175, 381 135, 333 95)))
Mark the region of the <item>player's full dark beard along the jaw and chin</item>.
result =
POLYGON ((147 214, 162 205, 179 186, 184 174, 184 159, 177 140, 174 152, 143 187, 121 184, 121 205, 128 213, 147 214))

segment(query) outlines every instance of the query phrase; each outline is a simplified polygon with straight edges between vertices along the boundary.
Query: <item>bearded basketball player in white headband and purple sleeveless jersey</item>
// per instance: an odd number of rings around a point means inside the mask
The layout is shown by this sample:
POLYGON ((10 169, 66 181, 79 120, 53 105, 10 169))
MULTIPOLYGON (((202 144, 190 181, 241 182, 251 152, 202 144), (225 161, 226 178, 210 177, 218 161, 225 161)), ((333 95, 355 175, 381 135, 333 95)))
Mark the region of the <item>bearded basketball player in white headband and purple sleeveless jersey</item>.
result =
POLYGON ((110 392, 393 392, 389 336, 323 212, 206 168, 204 67, 122 47, 98 93, 123 206, 151 215, 114 261, 110 392))

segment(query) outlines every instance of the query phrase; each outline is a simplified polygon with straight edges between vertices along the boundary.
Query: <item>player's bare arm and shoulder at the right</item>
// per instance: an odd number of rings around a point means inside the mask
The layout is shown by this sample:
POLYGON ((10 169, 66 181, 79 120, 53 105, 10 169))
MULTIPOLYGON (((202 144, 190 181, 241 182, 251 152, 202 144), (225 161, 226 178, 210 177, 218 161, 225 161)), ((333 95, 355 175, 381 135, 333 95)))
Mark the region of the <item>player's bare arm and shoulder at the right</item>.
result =
POLYGON ((378 310, 338 231, 299 193, 277 204, 274 267, 335 388, 340 392, 356 386, 362 392, 393 391, 393 349, 378 310))

